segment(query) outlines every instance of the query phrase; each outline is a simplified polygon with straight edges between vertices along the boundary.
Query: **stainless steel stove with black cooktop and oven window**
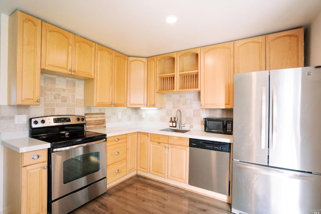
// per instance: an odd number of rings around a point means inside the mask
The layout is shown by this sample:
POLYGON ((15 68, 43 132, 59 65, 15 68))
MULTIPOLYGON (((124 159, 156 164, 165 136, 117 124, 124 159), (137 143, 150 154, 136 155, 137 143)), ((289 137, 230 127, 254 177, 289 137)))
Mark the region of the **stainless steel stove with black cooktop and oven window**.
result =
POLYGON ((106 134, 85 131, 85 117, 30 119, 30 137, 48 149, 48 212, 68 213, 107 190, 106 134))

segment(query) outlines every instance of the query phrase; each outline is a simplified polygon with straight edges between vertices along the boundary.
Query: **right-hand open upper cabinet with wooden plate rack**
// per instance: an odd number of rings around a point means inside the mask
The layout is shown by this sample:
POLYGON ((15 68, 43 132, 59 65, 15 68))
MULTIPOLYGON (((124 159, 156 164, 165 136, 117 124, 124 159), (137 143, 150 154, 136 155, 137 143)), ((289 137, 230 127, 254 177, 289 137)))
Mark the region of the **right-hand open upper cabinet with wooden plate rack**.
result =
POLYGON ((177 91, 200 90, 200 48, 177 52, 177 91))

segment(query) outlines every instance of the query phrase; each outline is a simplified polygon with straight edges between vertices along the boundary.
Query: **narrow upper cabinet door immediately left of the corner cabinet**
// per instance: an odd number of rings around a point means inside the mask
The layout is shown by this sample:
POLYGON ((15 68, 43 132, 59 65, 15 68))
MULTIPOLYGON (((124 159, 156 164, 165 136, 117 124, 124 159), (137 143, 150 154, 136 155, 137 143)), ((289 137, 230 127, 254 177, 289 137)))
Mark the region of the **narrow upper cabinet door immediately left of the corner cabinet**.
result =
POLYGON ((127 57, 114 51, 113 107, 127 105, 127 57))

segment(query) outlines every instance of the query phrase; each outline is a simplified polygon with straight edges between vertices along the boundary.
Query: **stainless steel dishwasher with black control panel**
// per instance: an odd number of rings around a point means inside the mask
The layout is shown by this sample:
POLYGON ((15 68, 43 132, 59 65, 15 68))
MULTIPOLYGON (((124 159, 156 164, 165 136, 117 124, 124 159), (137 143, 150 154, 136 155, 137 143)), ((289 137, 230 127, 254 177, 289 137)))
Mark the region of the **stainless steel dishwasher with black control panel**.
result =
POLYGON ((190 138, 189 184, 229 195, 231 144, 190 138))

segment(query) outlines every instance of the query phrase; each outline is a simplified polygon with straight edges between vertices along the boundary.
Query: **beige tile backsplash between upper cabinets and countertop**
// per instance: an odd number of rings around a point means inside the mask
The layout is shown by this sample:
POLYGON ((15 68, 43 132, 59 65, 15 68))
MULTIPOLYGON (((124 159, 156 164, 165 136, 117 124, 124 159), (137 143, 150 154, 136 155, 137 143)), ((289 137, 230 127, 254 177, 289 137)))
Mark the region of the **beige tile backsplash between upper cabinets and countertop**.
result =
POLYGON ((182 111, 182 122, 190 127, 202 129, 202 115, 208 117, 233 117, 232 109, 201 109, 199 92, 165 94, 165 108, 141 110, 140 108, 103 108, 83 107, 84 81, 41 74, 41 102, 39 106, 0 105, 0 132, 29 130, 29 118, 48 115, 84 115, 84 113, 102 113, 106 123, 169 122, 176 117, 177 109, 182 111), (27 115, 26 124, 15 124, 15 115, 27 115), (120 118, 118 117, 120 116, 120 118))

